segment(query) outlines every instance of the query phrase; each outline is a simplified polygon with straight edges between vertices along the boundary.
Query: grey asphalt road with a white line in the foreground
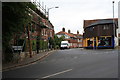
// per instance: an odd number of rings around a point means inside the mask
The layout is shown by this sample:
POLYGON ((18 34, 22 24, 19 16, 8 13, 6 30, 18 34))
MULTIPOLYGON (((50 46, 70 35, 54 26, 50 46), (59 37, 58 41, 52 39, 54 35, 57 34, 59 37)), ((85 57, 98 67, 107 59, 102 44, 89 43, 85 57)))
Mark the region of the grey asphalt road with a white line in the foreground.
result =
POLYGON ((117 78, 118 50, 66 49, 29 66, 3 72, 3 78, 117 78))

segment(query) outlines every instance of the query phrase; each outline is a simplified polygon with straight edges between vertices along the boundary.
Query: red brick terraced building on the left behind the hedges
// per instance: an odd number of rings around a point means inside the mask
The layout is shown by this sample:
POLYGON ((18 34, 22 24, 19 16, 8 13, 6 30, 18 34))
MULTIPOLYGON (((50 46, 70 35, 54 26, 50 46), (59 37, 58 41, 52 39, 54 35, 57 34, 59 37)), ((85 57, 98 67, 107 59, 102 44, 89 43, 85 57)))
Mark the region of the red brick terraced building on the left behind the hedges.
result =
MULTIPOLYGON (((49 37, 54 37, 54 26, 48 20, 45 14, 42 14, 38 9, 36 11, 31 10, 31 26, 30 36, 31 40, 35 40, 37 36, 41 40, 47 41, 49 37)), ((26 27, 25 27, 26 30, 26 27)))

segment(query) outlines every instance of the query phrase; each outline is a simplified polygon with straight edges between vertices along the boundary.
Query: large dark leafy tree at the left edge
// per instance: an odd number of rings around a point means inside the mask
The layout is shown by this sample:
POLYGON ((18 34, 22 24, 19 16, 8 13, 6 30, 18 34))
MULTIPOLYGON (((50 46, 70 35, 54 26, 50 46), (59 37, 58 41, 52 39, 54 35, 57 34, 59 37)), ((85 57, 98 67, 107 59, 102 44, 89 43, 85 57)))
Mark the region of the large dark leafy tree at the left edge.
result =
POLYGON ((11 53, 8 50, 10 50, 10 41, 13 38, 13 34, 23 32, 24 25, 28 25, 31 22, 30 9, 36 9, 36 6, 31 2, 2 3, 2 41, 4 54, 11 53))

